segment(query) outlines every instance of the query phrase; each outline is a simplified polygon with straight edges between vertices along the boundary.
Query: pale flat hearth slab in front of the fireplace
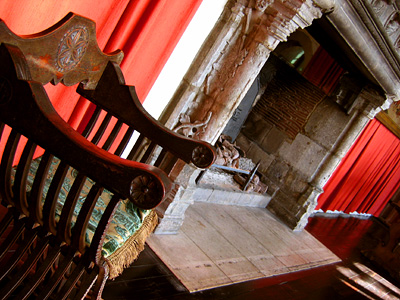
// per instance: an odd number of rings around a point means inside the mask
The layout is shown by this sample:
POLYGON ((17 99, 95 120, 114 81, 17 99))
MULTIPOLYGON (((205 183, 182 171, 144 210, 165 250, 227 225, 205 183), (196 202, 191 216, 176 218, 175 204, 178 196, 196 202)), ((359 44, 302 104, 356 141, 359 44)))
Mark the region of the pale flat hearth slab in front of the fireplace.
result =
POLYGON ((178 234, 153 235, 148 244, 190 292, 340 261, 265 208, 203 202, 188 208, 178 234))

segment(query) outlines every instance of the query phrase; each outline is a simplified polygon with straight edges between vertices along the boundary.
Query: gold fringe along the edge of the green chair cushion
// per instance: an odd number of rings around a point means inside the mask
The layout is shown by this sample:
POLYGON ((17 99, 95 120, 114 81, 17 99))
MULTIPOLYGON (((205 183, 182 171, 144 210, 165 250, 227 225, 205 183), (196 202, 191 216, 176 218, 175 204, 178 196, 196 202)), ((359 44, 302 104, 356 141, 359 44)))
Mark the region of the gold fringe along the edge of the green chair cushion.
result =
POLYGON ((158 223, 158 217, 152 210, 143 220, 142 226, 109 257, 105 258, 109 268, 110 277, 113 279, 130 266, 144 249, 147 237, 154 231, 158 223))

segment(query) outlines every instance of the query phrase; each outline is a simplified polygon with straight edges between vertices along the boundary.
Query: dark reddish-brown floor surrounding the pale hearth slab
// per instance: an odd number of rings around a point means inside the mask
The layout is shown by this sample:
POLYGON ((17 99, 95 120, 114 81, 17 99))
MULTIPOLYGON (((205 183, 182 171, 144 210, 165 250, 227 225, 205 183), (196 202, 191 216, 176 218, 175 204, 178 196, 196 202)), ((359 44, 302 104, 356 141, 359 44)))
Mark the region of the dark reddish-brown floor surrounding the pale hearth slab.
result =
MULTIPOLYGON (((130 268, 114 281, 107 283, 103 298, 400 299, 400 291, 391 285, 391 278, 360 255, 360 249, 370 246, 370 229, 373 226, 374 222, 371 220, 314 217, 310 220, 307 231, 339 256, 341 263, 196 293, 189 293, 157 255, 146 247, 130 268)), ((179 254, 177 252, 177 256, 179 254)))

